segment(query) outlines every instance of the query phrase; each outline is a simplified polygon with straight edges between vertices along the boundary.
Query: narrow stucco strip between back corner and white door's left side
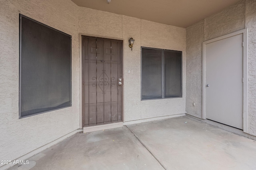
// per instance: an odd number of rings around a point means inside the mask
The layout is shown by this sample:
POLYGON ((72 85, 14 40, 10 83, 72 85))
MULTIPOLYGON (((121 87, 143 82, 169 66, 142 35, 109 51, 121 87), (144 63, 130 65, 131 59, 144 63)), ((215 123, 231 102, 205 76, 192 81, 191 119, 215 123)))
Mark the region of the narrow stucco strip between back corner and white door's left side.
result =
POLYGON ((186 113, 202 118, 202 42, 204 21, 186 28, 187 98, 186 113), (193 103, 196 106, 193 106, 193 103))

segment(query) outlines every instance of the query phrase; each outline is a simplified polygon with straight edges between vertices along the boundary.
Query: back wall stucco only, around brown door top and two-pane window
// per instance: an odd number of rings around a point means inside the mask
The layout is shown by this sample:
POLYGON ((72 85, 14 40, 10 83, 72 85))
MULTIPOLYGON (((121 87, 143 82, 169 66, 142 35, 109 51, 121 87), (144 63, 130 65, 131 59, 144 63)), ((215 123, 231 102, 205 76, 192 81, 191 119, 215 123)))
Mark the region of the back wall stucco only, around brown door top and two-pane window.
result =
POLYGON ((185 113, 186 29, 82 7, 79 12, 79 33, 124 40, 124 121, 185 113), (135 39, 132 51, 130 37, 135 39), (140 47, 183 52, 182 98, 141 101, 140 47))

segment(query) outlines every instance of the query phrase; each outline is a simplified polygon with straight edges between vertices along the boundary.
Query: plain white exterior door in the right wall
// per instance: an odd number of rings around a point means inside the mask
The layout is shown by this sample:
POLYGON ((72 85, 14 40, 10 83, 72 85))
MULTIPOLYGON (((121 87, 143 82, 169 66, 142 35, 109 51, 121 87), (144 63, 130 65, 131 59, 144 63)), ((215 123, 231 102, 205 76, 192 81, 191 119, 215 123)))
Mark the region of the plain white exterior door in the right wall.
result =
POLYGON ((243 129, 243 34, 205 45, 206 119, 243 129))

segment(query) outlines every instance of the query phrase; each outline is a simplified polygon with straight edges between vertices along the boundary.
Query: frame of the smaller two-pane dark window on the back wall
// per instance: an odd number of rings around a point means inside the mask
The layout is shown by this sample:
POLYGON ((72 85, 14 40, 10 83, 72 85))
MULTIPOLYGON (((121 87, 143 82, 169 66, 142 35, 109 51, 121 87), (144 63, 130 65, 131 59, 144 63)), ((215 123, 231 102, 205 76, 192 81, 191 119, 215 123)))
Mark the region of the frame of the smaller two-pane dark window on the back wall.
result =
POLYGON ((140 74, 140 82, 141 82, 141 84, 140 84, 140 100, 141 101, 143 101, 143 100, 159 100, 159 99, 170 99, 170 98, 182 98, 182 96, 183 96, 183 93, 182 93, 182 91, 183 91, 183 84, 182 84, 182 78, 183 78, 183 68, 182 68, 182 64, 183 64, 183 60, 182 60, 182 51, 177 51, 177 50, 169 50, 169 49, 160 49, 160 50, 162 50, 162 74, 161 74, 161 78, 162 78, 162 98, 153 98, 153 99, 142 99, 142 49, 156 49, 156 50, 159 50, 158 48, 152 48, 152 47, 141 47, 141 49, 140 49, 140 59, 141 59, 141 61, 140 61, 140 63, 141 63, 141 68, 140 68, 140 70, 141 70, 141 74, 140 74), (164 51, 171 51, 171 52, 175 52, 175 53, 180 53, 180 57, 181 57, 181 68, 180 68, 180 71, 181 71, 181 77, 180 77, 180 83, 181 83, 181 96, 176 96, 176 97, 168 97, 168 98, 166 98, 166 97, 164 97, 164 51))

